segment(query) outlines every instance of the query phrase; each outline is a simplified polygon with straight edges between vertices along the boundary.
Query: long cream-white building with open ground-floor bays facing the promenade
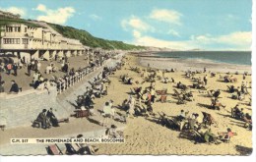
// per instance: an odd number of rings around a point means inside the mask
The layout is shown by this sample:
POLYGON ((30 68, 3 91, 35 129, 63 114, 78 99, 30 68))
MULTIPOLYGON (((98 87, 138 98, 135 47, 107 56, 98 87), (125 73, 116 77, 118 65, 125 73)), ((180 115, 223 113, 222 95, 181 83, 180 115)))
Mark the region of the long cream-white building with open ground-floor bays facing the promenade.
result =
POLYGON ((50 27, 30 27, 11 24, 0 28, 0 52, 12 53, 18 58, 44 58, 86 54, 89 47, 79 40, 63 37, 50 27))

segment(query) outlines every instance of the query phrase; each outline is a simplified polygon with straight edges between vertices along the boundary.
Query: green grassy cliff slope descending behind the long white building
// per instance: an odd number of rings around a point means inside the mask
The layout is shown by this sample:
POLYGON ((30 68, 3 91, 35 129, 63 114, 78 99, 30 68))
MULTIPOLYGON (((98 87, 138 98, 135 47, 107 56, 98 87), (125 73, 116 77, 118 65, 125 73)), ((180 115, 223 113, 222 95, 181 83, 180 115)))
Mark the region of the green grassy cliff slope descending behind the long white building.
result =
POLYGON ((97 38, 93 36, 86 30, 77 29, 74 27, 63 27, 54 24, 48 24, 50 27, 53 27, 56 31, 61 33, 65 37, 79 39, 84 45, 90 47, 101 47, 103 49, 144 49, 143 46, 135 46, 131 44, 123 43, 122 41, 115 40, 106 40, 102 38, 97 38))

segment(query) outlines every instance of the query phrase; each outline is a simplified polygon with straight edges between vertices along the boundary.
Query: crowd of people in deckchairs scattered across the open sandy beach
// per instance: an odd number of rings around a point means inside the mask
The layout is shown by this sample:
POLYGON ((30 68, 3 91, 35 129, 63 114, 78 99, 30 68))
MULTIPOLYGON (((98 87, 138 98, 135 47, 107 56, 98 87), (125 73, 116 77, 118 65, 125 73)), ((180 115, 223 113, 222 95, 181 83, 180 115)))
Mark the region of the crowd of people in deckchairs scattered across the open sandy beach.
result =
MULTIPOLYGON (((129 99, 125 99, 123 101, 122 103, 123 110, 126 111, 127 114, 133 115, 133 116, 145 116, 145 114, 147 114, 146 117, 156 116, 155 113, 152 113, 154 102, 156 101, 155 98, 158 96, 156 92, 157 90, 155 88, 156 81, 162 80, 163 83, 168 84, 169 82, 175 82, 174 79, 171 78, 171 81, 169 81, 168 78, 165 76, 166 71, 162 71, 162 77, 160 78, 160 76, 158 76, 158 73, 160 72, 160 70, 152 70, 150 69, 150 67, 148 67, 148 70, 140 69, 137 67, 130 68, 130 69, 131 71, 141 74, 140 77, 144 80, 141 84, 147 81, 147 82, 151 82, 151 85, 145 88, 143 88, 142 85, 131 88, 131 94, 134 94, 134 96, 131 95, 129 99), (144 103, 145 106, 142 105, 142 103, 144 103)), ((200 72, 200 71, 193 72, 191 70, 186 71, 184 76, 187 79, 194 81, 195 83, 193 83, 192 85, 186 85, 181 81, 177 81, 175 87, 180 89, 181 92, 179 93, 177 92, 177 90, 175 90, 176 96, 179 95, 182 100, 194 101, 193 94, 188 89, 190 89, 191 87, 202 89, 202 90, 205 90, 205 92, 208 93, 208 96, 211 97, 211 104, 210 104, 211 108, 221 110, 221 108, 226 107, 226 105, 224 105, 220 100, 220 98, 222 98, 221 90, 208 89, 207 85, 211 84, 211 82, 209 82, 206 68, 204 68, 203 72, 200 72), (197 74, 204 74, 204 76, 202 79, 201 77, 196 78, 197 74)), ((243 80, 245 80, 246 76, 247 75, 245 74, 243 75, 243 80)), ((216 77, 216 73, 211 74, 211 78, 215 78, 215 77, 216 77)), ((123 75, 120 77, 120 79, 122 82, 128 82, 129 79, 133 79, 133 78, 128 77, 128 75, 123 75)), ((237 79, 234 78, 233 76, 230 76, 230 77, 226 76, 224 78, 224 81, 237 82, 237 79), (225 80, 228 80, 228 81, 225 81, 225 80)), ((138 84, 134 82, 135 81, 129 84, 132 84, 132 85, 138 84)), ((235 89, 235 87, 231 85, 230 88, 228 88, 227 92, 230 92, 230 93, 237 92, 237 95, 238 95, 237 99, 241 100, 241 95, 249 94, 247 88, 249 88, 249 83, 247 81, 241 81, 240 87, 238 86, 235 89)), ((241 109, 234 108, 233 115, 231 116, 245 122, 246 127, 248 127, 250 130, 252 128, 251 116, 248 113, 243 114, 242 111, 243 111, 242 108, 241 109)), ((202 119, 200 116, 201 115, 197 113, 192 113, 191 115, 189 115, 189 112, 184 112, 184 110, 181 110, 180 114, 175 119, 170 119, 170 121, 168 122, 166 122, 167 117, 165 115, 161 116, 162 117, 161 122, 165 123, 163 125, 166 125, 166 123, 170 124, 171 127, 175 125, 177 129, 180 131, 182 131, 183 129, 190 130, 190 131, 193 130, 193 132, 196 132, 194 134, 194 137, 200 135, 199 138, 203 139, 203 141, 207 143, 210 143, 212 141, 215 143, 220 143, 218 141, 228 141, 232 135, 236 135, 235 133, 232 133, 230 128, 227 128, 227 131, 224 133, 218 133, 218 135, 215 135, 211 131, 211 124, 213 123, 212 121, 213 118, 211 117, 211 115, 208 114, 208 116, 205 116, 205 115, 201 116, 202 119), (205 125, 203 127, 203 124, 207 124, 207 123, 210 123, 210 125, 209 126, 205 125)), ((196 142, 199 141, 198 140, 199 138, 196 137, 196 142)))

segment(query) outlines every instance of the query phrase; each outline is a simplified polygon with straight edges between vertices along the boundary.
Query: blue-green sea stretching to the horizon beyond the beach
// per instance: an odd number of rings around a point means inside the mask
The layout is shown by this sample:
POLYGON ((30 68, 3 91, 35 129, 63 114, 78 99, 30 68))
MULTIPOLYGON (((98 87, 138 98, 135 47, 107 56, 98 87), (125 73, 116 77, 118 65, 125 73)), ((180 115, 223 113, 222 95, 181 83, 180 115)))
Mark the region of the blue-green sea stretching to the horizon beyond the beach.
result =
POLYGON ((251 51, 171 51, 154 53, 160 58, 195 59, 235 65, 251 65, 251 51))

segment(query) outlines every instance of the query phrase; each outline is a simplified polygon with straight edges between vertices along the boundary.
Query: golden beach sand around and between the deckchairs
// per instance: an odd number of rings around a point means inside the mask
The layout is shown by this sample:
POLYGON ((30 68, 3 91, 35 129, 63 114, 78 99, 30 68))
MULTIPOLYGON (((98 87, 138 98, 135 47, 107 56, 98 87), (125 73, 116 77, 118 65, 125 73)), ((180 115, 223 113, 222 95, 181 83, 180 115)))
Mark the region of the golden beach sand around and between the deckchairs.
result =
MULTIPOLYGON (((140 75, 136 72, 129 70, 129 67, 140 67, 141 69, 144 68, 139 65, 140 62, 143 62, 142 65, 147 66, 148 63, 151 66, 158 67, 165 69, 166 64, 169 65, 171 68, 174 68, 174 65, 177 66, 178 72, 176 73, 166 73, 165 76, 173 78, 176 82, 181 81, 187 85, 191 85, 192 81, 186 79, 183 75, 182 71, 186 71, 189 68, 181 66, 182 64, 173 63, 168 61, 148 61, 146 58, 145 60, 139 60, 135 56, 127 56, 128 63, 125 67, 122 68, 121 71, 118 71, 116 75, 124 75, 128 74, 130 77, 133 77, 135 81, 142 81, 140 75), (147 61, 146 61, 147 60, 147 61), (152 64, 154 62, 154 65, 152 64), (181 67, 179 67, 181 66, 181 67)), ((155 60, 155 58, 153 59, 155 60)), ((183 63, 185 64, 185 63, 183 63)), ((210 65, 205 64, 208 68, 210 65)), ((198 66, 201 71, 203 71, 203 67, 198 66)), ((221 72, 231 72, 231 69, 222 69, 222 67, 211 67, 213 71, 221 71, 221 72)), ((229 67, 230 68, 230 67, 229 67)), ((248 67, 247 67, 248 68, 248 67)), ((146 68, 144 68, 146 69, 146 68)), ((210 68, 208 68, 210 69, 210 68)), ((211 70, 212 70, 211 69, 211 70)), ((236 71, 236 69, 235 69, 236 71)), ((249 71, 249 69, 240 69, 240 72, 249 71)), ((197 74, 196 77, 201 76, 203 78, 205 74, 197 74)), ((221 74, 224 76, 224 74, 221 74)), ((161 73, 158 73, 158 76, 161 76, 161 73)), ((188 138, 181 138, 179 137, 180 132, 173 131, 167 129, 165 127, 160 126, 157 124, 156 121, 158 117, 150 117, 148 119, 144 117, 133 117, 128 119, 127 127, 124 131, 125 135, 125 143, 120 144, 97 144, 99 150, 96 154, 178 154, 178 155, 245 155, 252 151, 252 132, 244 129, 242 127, 243 122, 237 121, 230 117, 230 109, 234 107, 237 103, 244 103, 241 104, 240 107, 244 108, 245 113, 252 114, 252 109, 250 106, 247 106, 245 103, 248 103, 249 96, 246 96, 244 101, 233 100, 231 98, 227 98, 230 96, 230 93, 227 93, 226 85, 230 85, 232 83, 226 83, 223 81, 219 81, 219 76, 215 78, 210 78, 209 76, 209 84, 207 87, 209 89, 221 89, 222 94, 220 101, 226 105, 225 109, 219 110, 212 110, 208 109, 204 106, 199 106, 198 103, 201 105, 210 105, 211 98, 206 97, 206 94, 199 93, 197 89, 191 89, 194 94, 195 101, 187 102, 185 105, 177 105, 176 99, 174 99, 171 95, 167 96, 166 103, 156 102, 153 105, 154 112, 158 114, 158 112, 164 112, 166 115, 169 116, 176 116, 180 113, 180 110, 183 109, 185 111, 189 111, 191 113, 198 113, 202 118, 202 111, 212 114, 216 121, 218 121, 218 127, 211 127, 212 132, 217 135, 218 132, 226 132, 227 128, 230 128, 232 132, 237 133, 237 135, 233 136, 230 139, 229 143, 221 143, 218 145, 215 144, 206 144, 206 143, 198 143, 195 144, 194 140, 188 138)), ((233 83, 235 86, 240 86, 242 81, 242 75, 235 75, 235 78, 238 79, 236 83, 233 83)), ((251 77, 247 77, 246 81, 251 81, 251 77)), ((124 85, 118 83, 115 84, 116 89, 123 89, 126 88, 127 92, 129 92, 130 87, 135 86, 149 86, 150 83, 146 82, 144 84, 134 84, 134 85, 124 85), (128 87, 127 87, 128 86, 128 87)), ((157 89, 167 88, 168 93, 173 93, 173 86, 176 85, 175 83, 168 83, 164 84, 160 81, 157 81, 157 89)), ((251 93, 251 89, 249 89, 251 93)), ((128 97, 128 95, 127 95, 128 97)), ((115 98, 115 100, 124 100, 125 98, 115 98)), ((120 102, 120 101, 118 101, 120 102)))

